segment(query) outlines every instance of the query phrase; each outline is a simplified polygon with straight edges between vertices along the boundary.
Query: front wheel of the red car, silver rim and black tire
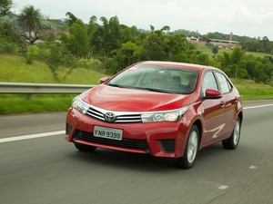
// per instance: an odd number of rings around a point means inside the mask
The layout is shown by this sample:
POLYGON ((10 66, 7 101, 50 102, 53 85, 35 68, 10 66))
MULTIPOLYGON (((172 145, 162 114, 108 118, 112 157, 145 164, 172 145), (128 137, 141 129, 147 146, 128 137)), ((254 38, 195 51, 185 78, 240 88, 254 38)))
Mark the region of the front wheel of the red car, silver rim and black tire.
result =
POLYGON ((175 165, 182 169, 191 169, 196 160, 199 147, 199 131, 196 125, 193 125, 189 131, 187 144, 185 147, 184 155, 181 158, 177 158, 175 165))

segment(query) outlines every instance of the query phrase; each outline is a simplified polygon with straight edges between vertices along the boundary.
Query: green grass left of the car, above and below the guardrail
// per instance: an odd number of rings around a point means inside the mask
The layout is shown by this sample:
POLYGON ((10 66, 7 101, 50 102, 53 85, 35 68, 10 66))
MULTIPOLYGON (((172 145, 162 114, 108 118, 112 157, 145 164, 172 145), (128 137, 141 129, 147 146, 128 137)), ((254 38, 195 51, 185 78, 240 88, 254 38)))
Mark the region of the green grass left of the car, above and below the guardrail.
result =
MULTIPOLYGON (((69 70, 58 68, 59 83, 96 85, 106 76, 86 68, 75 68, 66 76, 69 70)), ((23 57, 14 55, 0 55, 0 82, 57 83, 45 63, 26 64, 23 57)), ((34 95, 28 100, 24 94, 0 94, 0 114, 66 111, 74 97, 75 94, 34 95)))

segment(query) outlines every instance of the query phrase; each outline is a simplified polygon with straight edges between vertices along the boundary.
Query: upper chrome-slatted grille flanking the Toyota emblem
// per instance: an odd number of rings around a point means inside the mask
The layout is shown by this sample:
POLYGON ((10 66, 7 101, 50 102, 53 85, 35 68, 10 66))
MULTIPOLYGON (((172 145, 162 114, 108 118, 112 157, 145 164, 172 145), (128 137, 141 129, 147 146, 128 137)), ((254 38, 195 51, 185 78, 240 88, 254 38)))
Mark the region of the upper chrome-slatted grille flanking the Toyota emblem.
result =
MULTIPOLYGON (((88 111, 86 112, 86 115, 94 118, 99 121, 106 121, 105 119, 105 113, 100 112, 99 110, 90 107, 88 111)), ((115 121, 106 121, 106 122, 114 122, 114 123, 136 123, 136 122, 142 122, 141 115, 140 114, 122 114, 122 115, 116 115, 115 121)))

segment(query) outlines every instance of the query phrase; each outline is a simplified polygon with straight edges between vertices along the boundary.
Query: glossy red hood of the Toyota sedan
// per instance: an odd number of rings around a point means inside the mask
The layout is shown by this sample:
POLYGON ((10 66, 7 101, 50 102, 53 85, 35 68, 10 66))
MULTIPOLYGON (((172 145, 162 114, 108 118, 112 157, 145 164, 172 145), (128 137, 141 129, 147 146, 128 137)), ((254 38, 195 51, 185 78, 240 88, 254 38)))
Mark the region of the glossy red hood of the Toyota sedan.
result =
POLYGON ((190 103, 191 95, 151 92, 98 85, 81 94, 96 107, 116 112, 153 112, 178 109, 190 103))

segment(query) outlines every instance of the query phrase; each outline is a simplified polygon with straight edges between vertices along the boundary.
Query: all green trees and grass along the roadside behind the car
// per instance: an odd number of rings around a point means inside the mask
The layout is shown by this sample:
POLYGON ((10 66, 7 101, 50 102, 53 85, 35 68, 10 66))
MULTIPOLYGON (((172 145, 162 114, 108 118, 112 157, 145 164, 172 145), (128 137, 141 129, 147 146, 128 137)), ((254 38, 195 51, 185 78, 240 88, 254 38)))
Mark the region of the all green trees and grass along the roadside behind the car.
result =
MULTIPOLYGON (((97 84, 129 64, 159 60, 215 66, 234 79, 245 100, 273 98, 273 42, 267 36, 233 35, 241 47, 221 50, 192 44, 187 36, 227 40, 227 34, 170 32, 168 25, 145 31, 119 24, 117 16, 92 15, 85 24, 71 12, 52 20, 32 5, 15 15, 12 0, 0 4, 0 82, 97 84)), ((72 98, 1 95, 0 114, 64 111, 72 98)))

